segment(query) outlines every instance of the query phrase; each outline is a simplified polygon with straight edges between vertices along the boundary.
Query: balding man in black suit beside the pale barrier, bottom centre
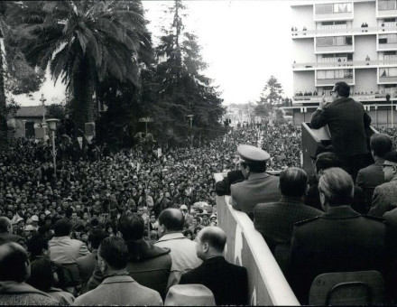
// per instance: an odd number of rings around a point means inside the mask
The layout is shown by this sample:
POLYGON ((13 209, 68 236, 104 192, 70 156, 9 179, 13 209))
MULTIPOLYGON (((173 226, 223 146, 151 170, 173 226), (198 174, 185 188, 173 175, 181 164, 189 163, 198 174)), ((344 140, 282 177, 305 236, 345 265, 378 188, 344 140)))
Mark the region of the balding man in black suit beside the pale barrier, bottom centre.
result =
POLYGON ((203 263, 183 274, 180 284, 204 284, 214 293, 217 305, 245 305, 248 277, 245 267, 229 264, 223 256, 226 233, 217 227, 203 228, 196 245, 203 263))

